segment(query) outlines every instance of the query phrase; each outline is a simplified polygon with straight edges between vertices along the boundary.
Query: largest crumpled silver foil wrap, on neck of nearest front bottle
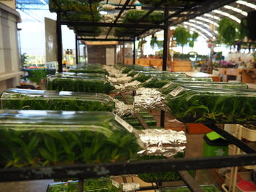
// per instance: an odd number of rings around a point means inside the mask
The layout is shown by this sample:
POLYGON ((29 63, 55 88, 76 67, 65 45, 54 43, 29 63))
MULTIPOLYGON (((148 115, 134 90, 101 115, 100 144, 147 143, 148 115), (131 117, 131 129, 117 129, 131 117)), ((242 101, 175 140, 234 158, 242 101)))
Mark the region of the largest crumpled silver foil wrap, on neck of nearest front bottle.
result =
POLYGON ((187 137, 184 131, 173 131, 170 129, 153 128, 141 130, 138 133, 144 150, 138 152, 140 155, 162 155, 171 157, 186 148, 187 137))

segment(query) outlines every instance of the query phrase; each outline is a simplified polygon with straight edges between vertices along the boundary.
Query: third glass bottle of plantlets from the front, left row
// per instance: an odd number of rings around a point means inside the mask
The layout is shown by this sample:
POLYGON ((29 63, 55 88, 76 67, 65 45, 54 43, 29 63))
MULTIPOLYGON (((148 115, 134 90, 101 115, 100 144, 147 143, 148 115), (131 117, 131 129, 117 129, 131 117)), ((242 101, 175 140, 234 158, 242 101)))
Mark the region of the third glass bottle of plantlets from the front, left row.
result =
POLYGON ((87 93, 110 93, 114 86, 105 78, 85 76, 48 75, 47 90, 87 93))

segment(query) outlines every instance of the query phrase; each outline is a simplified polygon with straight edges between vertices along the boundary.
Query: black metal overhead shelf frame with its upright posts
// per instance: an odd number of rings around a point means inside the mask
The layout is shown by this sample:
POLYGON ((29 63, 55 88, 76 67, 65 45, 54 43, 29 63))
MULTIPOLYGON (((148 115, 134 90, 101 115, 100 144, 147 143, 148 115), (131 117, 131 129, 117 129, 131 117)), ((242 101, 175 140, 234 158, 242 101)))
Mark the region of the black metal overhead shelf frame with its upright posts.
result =
MULTIPOLYGON (((115 40, 118 42, 133 42, 135 43, 135 38, 140 37, 140 35, 146 33, 146 31, 150 29, 162 29, 164 30, 164 45, 163 45, 163 62, 162 62, 162 70, 166 70, 167 66, 167 33, 170 26, 177 25, 179 23, 182 23, 184 21, 187 21, 191 18, 195 18, 199 15, 202 15, 206 12, 210 12, 213 9, 217 9, 219 7, 224 6, 225 4, 230 4, 234 0, 183 0, 184 2, 187 1, 187 4, 189 2, 193 2, 192 5, 187 5, 184 7, 165 7, 163 4, 165 4, 165 0, 159 1, 159 4, 156 6, 151 7, 141 7, 141 9, 147 10, 146 14, 143 15, 142 18, 137 20, 135 23, 118 23, 118 19, 121 17, 121 14, 126 9, 134 9, 135 6, 130 6, 129 3, 132 2, 132 0, 126 0, 124 4, 118 4, 116 6, 116 10, 118 10, 118 16, 114 20, 113 23, 98 23, 94 22, 94 16, 91 9, 91 17, 92 22, 82 22, 82 21, 74 21, 70 20, 68 14, 70 12, 64 11, 61 9, 61 6, 58 4, 56 0, 52 0, 52 3, 58 7, 56 10, 57 13, 57 44, 58 44, 58 63, 59 63, 59 72, 62 72, 62 37, 61 37, 61 25, 67 25, 69 27, 72 27, 75 29, 76 32, 76 40, 86 40, 86 41, 109 41, 109 40, 115 40), (143 20, 146 20, 148 18, 148 15, 150 15, 155 10, 160 10, 165 12, 165 17, 163 20, 160 20, 157 23, 143 23, 143 20), (61 15, 64 16, 65 20, 61 18, 61 15), (110 27, 108 30, 108 33, 105 35, 105 38, 97 38, 97 37, 83 37, 83 31, 76 30, 78 26, 94 26, 94 27, 110 27), (124 31, 123 36, 127 34, 131 34, 132 31, 132 37, 110 37, 110 31, 113 29, 113 27, 122 27, 127 28, 126 31, 124 31)), ((89 5, 91 7, 91 0, 88 0, 89 5)), ((121 1, 120 1, 121 2, 121 1)), ((107 1, 108 4, 108 1, 107 1)), ((90 31, 86 31, 90 33, 90 31)), ((91 32, 92 33, 92 32, 91 32)), ((134 50, 135 55, 135 50, 134 50)), ((78 57, 78 55, 76 55, 78 57)), ((135 59, 133 61, 133 64, 135 64, 135 59)))

